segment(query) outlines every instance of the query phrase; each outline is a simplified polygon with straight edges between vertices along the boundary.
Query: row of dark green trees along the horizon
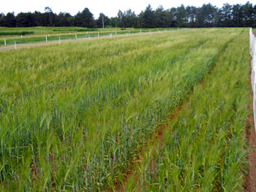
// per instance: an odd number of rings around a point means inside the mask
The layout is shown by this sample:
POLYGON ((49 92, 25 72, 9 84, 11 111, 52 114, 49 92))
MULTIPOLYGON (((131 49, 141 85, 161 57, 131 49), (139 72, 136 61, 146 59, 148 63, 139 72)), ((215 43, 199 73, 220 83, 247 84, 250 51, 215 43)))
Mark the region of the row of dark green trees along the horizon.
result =
POLYGON ((33 26, 80 26, 86 28, 107 27, 121 28, 167 28, 167 27, 256 27, 256 5, 223 4, 218 8, 212 4, 203 4, 202 7, 187 6, 164 9, 159 6, 152 9, 151 5, 136 15, 131 9, 118 11, 116 17, 108 18, 103 13, 99 18, 88 8, 78 12, 75 16, 68 12, 56 14, 45 7, 45 12, 14 12, 0 14, 0 26, 6 27, 33 27, 33 26))

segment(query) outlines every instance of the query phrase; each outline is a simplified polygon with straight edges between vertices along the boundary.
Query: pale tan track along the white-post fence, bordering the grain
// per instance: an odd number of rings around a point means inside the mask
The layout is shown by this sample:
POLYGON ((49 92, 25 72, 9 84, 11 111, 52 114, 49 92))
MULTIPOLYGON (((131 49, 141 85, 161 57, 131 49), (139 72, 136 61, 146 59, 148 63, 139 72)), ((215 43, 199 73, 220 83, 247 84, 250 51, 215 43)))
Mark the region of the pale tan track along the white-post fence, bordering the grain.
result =
MULTIPOLYGON (((163 33, 163 32, 173 32, 173 31, 181 31, 181 30, 186 30, 186 28, 181 28, 181 29, 170 29, 170 30, 165 30, 160 31, 157 29, 157 31, 127 31, 127 33, 118 34, 117 31, 114 33, 109 33, 109 34, 97 34, 97 35, 90 35, 86 34, 84 37, 77 37, 77 34, 75 34, 75 37, 57 37, 55 39, 47 39, 48 37, 45 37, 44 41, 31 41, 31 42, 10 42, 7 43, 5 42, 4 39, 4 44, 0 45, 0 51, 7 51, 7 50, 18 50, 22 48, 30 48, 30 47, 41 47, 44 45, 58 45, 64 42, 82 42, 82 41, 91 41, 91 40, 97 40, 97 39, 112 39, 115 37, 133 37, 133 36, 138 36, 138 35, 150 35, 150 34, 158 34, 158 33, 163 33)), ((73 34, 74 35, 74 34, 73 34)))

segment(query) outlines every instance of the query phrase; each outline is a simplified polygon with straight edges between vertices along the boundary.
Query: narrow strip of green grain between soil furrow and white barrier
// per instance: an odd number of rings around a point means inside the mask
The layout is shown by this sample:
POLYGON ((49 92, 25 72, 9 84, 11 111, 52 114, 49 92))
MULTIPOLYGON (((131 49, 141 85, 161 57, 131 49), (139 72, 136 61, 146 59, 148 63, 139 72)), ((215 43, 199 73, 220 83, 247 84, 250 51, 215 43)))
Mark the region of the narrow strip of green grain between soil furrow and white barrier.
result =
POLYGON ((168 123, 162 148, 144 153, 140 180, 131 177, 127 191, 243 191, 248 43, 246 30, 228 44, 189 104, 168 123))

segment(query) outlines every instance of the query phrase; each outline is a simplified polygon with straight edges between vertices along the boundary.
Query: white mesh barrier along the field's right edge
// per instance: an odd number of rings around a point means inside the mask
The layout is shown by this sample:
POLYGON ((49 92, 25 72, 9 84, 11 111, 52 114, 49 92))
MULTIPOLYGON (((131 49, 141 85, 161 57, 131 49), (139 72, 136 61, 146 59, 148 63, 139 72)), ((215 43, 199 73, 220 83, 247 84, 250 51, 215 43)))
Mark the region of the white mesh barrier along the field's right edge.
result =
MULTIPOLYGON (((250 54, 252 56, 252 91, 253 91, 253 118, 254 122, 256 122, 256 38, 252 32, 252 28, 249 29, 249 48, 250 54)), ((255 131, 256 131, 256 123, 255 123, 255 131)))

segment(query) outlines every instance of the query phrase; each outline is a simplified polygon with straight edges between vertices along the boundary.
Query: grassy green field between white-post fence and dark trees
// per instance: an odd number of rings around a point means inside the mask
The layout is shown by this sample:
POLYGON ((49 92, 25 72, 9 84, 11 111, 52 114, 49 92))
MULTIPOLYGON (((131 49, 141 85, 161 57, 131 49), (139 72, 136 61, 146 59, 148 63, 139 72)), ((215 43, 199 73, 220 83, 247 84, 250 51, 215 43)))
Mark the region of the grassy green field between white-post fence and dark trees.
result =
POLYGON ((81 28, 81 27, 31 27, 31 28, 3 28, 0 27, 0 46, 58 41, 59 39, 76 39, 88 37, 102 37, 110 34, 135 34, 156 31, 170 31, 181 28, 81 28), (4 43, 5 42, 5 43, 4 43))

